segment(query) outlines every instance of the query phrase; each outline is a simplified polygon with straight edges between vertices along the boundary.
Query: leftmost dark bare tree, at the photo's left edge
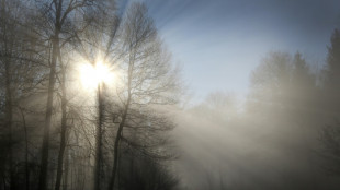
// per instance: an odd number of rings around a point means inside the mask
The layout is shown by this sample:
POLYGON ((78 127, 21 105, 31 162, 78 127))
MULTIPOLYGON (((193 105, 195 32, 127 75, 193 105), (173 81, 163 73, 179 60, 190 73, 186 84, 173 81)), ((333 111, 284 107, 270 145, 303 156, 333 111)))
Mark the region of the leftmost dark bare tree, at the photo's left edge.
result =
POLYGON ((1 90, 1 93, 4 95, 5 105, 4 126, 8 129, 7 142, 9 143, 8 159, 11 189, 15 186, 13 174, 13 123, 14 121, 19 122, 18 120, 21 120, 18 119, 21 110, 20 104, 34 93, 33 87, 39 82, 39 76, 36 73, 41 72, 41 75, 43 75, 42 70, 36 68, 36 64, 41 63, 41 60, 33 54, 38 50, 32 43, 35 36, 25 29, 29 22, 23 15, 27 15, 29 13, 24 5, 19 0, 1 1, 0 78, 1 86, 3 86, 2 90, 4 90, 4 92, 1 90))

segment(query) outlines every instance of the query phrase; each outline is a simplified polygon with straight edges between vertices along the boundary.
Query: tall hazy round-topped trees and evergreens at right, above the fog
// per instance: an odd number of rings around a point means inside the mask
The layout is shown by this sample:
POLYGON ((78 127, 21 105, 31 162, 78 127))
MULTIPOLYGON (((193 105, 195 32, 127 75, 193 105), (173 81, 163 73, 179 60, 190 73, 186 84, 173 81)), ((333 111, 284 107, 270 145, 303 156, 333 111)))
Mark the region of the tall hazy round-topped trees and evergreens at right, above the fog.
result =
MULTIPOLYGON (((272 52, 251 74, 248 110, 262 122, 292 130, 295 149, 311 151, 313 163, 339 176, 340 166, 340 32, 335 29, 327 59, 318 70, 299 52, 272 52)), ((249 112, 249 114, 250 114, 249 112)), ((310 152, 309 152, 310 153, 310 152)), ((309 157, 309 158, 310 158, 309 157)))

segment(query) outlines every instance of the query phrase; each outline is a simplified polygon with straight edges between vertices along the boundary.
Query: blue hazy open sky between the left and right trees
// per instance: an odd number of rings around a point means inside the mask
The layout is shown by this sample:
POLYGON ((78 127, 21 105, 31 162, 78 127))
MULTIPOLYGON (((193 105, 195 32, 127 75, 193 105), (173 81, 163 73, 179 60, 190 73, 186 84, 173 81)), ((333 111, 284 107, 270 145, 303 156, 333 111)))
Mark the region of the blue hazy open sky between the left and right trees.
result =
POLYGON ((144 2, 182 64, 194 100, 214 91, 245 96, 250 71, 271 50, 299 50, 311 64, 322 64, 329 37, 340 25, 340 0, 144 2))

